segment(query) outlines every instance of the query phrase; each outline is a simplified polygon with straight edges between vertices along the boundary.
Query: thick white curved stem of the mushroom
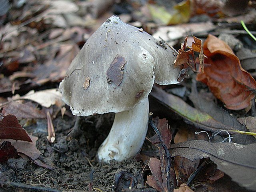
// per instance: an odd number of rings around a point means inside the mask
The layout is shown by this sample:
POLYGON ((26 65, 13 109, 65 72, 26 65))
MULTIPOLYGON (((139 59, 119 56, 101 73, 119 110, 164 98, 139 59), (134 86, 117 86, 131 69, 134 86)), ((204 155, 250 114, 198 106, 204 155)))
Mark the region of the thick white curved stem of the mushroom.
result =
POLYGON ((110 133, 98 149, 98 158, 109 162, 134 157, 148 130, 148 98, 128 111, 116 113, 110 133))

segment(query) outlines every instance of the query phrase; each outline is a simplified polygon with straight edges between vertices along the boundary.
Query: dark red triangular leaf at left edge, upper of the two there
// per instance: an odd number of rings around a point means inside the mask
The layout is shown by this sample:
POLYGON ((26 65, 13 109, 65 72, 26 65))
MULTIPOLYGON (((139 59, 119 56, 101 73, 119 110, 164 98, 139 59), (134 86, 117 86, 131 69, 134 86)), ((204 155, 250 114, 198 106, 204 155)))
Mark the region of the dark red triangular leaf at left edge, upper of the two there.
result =
POLYGON ((19 124, 14 115, 2 116, 0 121, 0 139, 13 139, 32 142, 26 130, 19 124))

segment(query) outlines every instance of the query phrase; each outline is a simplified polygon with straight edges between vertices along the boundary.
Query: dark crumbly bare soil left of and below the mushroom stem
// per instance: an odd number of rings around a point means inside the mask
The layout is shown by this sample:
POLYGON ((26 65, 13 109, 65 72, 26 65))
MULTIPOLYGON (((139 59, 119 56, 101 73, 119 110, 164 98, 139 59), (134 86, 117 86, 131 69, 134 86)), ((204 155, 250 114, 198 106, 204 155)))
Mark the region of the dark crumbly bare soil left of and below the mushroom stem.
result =
MULTIPOLYGON (((6 164, 1 165, 2 179, 7 176, 11 182, 16 184, 27 184, 43 188, 54 188, 58 190, 102 190, 112 191, 121 181, 115 183, 117 177, 125 176, 134 179, 135 184, 144 187, 142 169, 144 164, 137 160, 125 162, 112 161, 110 164, 100 164, 96 159, 96 152, 100 144, 110 130, 114 114, 95 115, 81 120, 81 130, 78 138, 68 137, 75 117, 54 120, 56 140, 50 144, 47 136, 46 120, 38 122, 26 130, 38 137, 37 148, 43 154, 40 160, 52 167, 40 167, 30 160, 23 158, 9 159, 6 164)), ((129 180, 130 184, 130 180, 129 180)), ((128 185, 129 186, 129 185, 128 185)), ((52 191, 53 189, 48 189, 52 191)), ((8 188, 4 191, 35 191, 8 188)))

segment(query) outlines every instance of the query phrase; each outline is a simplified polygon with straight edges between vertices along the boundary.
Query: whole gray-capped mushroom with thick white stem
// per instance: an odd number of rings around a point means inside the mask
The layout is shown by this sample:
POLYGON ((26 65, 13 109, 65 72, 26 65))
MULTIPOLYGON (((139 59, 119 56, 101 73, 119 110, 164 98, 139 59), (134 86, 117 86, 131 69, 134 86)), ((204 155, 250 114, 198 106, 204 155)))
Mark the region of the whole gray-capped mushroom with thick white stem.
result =
POLYGON ((106 20, 84 44, 60 83, 62 100, 73 115, 114 112, 99 160, 134 157, 148 129, 148 94, 154 82, 176 84, 175 52, 118 16, 106 20))

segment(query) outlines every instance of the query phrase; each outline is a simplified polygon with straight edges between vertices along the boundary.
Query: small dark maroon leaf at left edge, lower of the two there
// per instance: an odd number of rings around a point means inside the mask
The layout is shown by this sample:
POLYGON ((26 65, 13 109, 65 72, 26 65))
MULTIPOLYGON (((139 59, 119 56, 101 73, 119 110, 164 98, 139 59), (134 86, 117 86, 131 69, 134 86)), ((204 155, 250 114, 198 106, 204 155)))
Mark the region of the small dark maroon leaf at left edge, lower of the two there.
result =
POLYGON ((0 146, 0 163, 5 163, 9 158, 18 158, 18 152, 11 142, 5 141, 0 146))

